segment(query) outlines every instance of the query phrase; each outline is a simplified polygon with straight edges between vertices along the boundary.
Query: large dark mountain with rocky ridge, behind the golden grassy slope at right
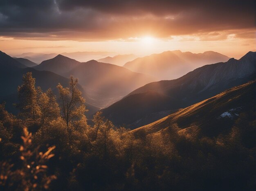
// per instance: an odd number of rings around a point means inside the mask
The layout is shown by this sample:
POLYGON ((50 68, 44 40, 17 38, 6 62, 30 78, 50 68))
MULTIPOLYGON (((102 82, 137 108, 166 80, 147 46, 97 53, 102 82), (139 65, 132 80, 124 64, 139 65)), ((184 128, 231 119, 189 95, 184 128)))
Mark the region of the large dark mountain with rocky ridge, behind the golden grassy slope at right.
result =
POLYGON ((159 116, 163 116, 172 110, 185 108, 228 88, 254 80, 255 63, 256 53, 249 52, 239 60, 232 58, 225 63, 202 66, 175 80, 148 83, 103 109, 102 112, 116 125, 126 124, 131 128, 146 125, 153 122, 148 117, 153 112, 162 112, 159 116), (148 99, 148 91, 157 92, 155 93, 157 96, 148 99), (169 99, 166 101, 159 99, 163 96, 169 99), (144 108, 145 105, 146 108, 144 108))

